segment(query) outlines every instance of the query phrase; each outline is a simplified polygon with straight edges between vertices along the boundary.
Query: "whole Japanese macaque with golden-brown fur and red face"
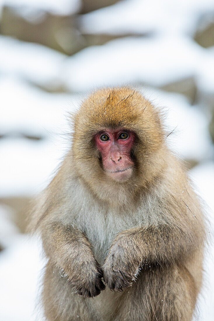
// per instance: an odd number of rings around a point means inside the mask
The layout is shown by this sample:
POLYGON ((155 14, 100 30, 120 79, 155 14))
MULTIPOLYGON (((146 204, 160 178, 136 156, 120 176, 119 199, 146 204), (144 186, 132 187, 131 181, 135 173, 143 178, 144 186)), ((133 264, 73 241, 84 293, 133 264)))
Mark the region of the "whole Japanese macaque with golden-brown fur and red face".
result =
POLYGON ((73 116, 72 147, 31 222, 48 259, 48 321, 192 320, 205 224, 161 118, 131 88, 98 90, 73 116))

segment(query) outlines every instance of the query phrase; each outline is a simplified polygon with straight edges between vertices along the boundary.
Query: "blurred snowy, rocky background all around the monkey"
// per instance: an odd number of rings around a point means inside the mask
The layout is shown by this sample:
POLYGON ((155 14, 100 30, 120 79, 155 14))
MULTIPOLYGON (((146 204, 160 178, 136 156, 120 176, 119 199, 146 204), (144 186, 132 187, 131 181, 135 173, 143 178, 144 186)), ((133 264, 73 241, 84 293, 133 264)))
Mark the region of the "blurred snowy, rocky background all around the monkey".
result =
MULTIPOLYGON (((166 112, 169 147, 214 210, 213 0, 0 0, 0 320, 42 320, 29 201, 68 146, 69 111, 131 84, 166 112)), ((212 235, 212 223, 211 232, 212 235)), ((211 238, 212 239, 212 236, 211 238)), ((198 320, 214 320, 214 247, 198 320)))

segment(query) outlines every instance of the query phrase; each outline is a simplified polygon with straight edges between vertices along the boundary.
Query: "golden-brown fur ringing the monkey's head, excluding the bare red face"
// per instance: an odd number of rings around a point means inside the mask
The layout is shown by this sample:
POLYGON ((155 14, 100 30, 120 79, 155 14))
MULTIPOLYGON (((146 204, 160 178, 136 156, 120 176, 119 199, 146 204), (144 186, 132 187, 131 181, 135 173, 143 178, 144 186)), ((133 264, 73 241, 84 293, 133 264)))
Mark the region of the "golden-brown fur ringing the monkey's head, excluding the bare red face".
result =
POLYGON ((111 197, 112 200, 114 196, 117 199, 118 195, 115 195, 115 192, 111 195, 112 185, 117 184, 120 189, 130 185, 130 196, 132 191, 136 192, 136 189, 151 183, 164 167, 163 150, 166 151, 166 157, 167 149, 164 145, 165 133, 160 115, 148 100, 132 88, 107 88, 91 94, 74 117, 74 129, 73 157, 76 168, 102 199, 111 197), (133 175, 128 182, 112 182, 105 176, 100 166, 99 153, 94 146, 94 135, 107 128, 123 128, 134 131, 136 135, 132 155, 137 175, 133 175), (97 183, 98 177, 102 189, 106 187, 104 195, 100 184, 97 183), (95 184, 94 178, 96 178, 95 184))

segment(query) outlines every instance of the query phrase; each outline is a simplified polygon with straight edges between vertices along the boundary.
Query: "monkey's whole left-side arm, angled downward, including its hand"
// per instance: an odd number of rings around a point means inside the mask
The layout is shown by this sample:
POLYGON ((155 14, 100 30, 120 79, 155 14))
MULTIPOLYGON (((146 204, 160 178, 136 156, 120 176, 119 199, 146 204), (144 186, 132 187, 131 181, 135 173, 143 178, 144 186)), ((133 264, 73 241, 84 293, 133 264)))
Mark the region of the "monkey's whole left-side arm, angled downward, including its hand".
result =
POLYGON ((94 297, 105 289, 101 268, 84 233, 61 222, 49 223, 42 231, 47 257, 58 271, 67 275, 72 291, 84 298, 94 297))

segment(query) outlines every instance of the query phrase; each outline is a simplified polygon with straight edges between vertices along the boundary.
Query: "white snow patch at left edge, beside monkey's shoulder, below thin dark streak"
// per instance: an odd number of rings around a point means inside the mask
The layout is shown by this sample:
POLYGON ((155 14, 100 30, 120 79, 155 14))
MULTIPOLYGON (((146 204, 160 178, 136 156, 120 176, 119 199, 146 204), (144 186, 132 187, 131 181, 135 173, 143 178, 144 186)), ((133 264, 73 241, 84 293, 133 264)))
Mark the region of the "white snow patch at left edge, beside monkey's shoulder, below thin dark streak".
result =
POLYGON ((46 187, 65 154, 63 144, 4 139, 0 143, 0 196, 31 196, 46 187))

